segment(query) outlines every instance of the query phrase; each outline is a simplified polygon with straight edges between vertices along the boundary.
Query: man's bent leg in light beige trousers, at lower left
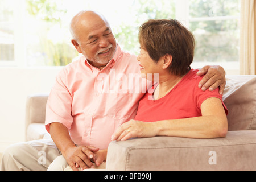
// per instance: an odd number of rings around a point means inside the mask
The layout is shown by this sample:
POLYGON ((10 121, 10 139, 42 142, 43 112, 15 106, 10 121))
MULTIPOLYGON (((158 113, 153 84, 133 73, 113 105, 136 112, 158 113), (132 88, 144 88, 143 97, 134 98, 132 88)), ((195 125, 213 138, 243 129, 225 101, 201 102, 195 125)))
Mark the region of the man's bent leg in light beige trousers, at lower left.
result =
POLYGON ((51 139, 13 144, 3 153, 1 170, 46 171, 59 155, 51 139))

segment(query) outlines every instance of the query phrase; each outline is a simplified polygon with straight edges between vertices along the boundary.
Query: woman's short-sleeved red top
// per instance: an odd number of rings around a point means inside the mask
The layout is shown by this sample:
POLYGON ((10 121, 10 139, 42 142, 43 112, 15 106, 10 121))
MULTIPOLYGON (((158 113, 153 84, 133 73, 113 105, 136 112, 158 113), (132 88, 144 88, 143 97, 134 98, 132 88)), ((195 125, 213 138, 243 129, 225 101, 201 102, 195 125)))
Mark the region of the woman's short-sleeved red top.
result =
MULTIPOLYGON (((203 92, 199 82, 203 77, 197 76, 198 70, 192 69, 183 79, 163 98, 154 100, 152 94, 148 93, 139 102, 139 108, 135 120, 144 122, 162 121, 167 119, 182 119, 200 117, 201 104, 210 97, 220 98, 219 89, 212 92, 203 92)), ((152 86, 154 90, 158 84, 152 86)), ((228 110, 224 105, 226 114, 228 110)))

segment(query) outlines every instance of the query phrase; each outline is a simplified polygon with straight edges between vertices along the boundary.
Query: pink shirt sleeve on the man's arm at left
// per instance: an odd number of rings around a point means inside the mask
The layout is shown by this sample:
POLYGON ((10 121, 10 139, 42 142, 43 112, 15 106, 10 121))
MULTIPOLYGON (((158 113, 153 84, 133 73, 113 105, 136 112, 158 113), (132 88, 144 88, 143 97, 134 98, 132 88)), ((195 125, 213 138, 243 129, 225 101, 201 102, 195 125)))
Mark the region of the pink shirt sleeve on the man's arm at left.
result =
POLYGON ((71 128, 72 117, 72 95, 67 87, 67 73, 65 69, 57 75, 48 97, 46 105, 46 130, 49 132, 49 125, 57 122, 62 123, 67 129, 71 128))

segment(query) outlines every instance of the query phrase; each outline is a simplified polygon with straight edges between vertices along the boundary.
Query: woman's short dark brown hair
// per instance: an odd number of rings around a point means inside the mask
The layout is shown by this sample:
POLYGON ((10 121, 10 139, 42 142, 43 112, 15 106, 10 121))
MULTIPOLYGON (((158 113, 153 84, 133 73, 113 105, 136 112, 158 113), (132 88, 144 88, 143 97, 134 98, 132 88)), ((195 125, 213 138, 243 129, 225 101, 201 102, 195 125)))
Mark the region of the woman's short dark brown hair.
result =
POLYGON ((139 43, 156 63, 160 57, 172 55, 169 69, 183 76, 191 70, 195 38, 191 31, 175 19, 151 19, 139 28, 139 43))

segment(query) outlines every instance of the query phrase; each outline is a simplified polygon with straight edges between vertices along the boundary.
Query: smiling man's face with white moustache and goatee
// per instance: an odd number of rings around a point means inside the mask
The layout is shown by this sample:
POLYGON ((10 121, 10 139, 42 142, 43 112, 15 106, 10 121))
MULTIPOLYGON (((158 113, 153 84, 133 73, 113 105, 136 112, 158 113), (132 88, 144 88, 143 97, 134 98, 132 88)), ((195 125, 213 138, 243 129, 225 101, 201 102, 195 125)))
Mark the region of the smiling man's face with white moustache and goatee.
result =
MULTIPOLYGON (((83 29, 83 28, 81 28, 83 29)), ((104 21, 80 31, 79 46, 86 59, 95 67, 102 67, 113 59, 117 43, 108 24, 104 21)))

